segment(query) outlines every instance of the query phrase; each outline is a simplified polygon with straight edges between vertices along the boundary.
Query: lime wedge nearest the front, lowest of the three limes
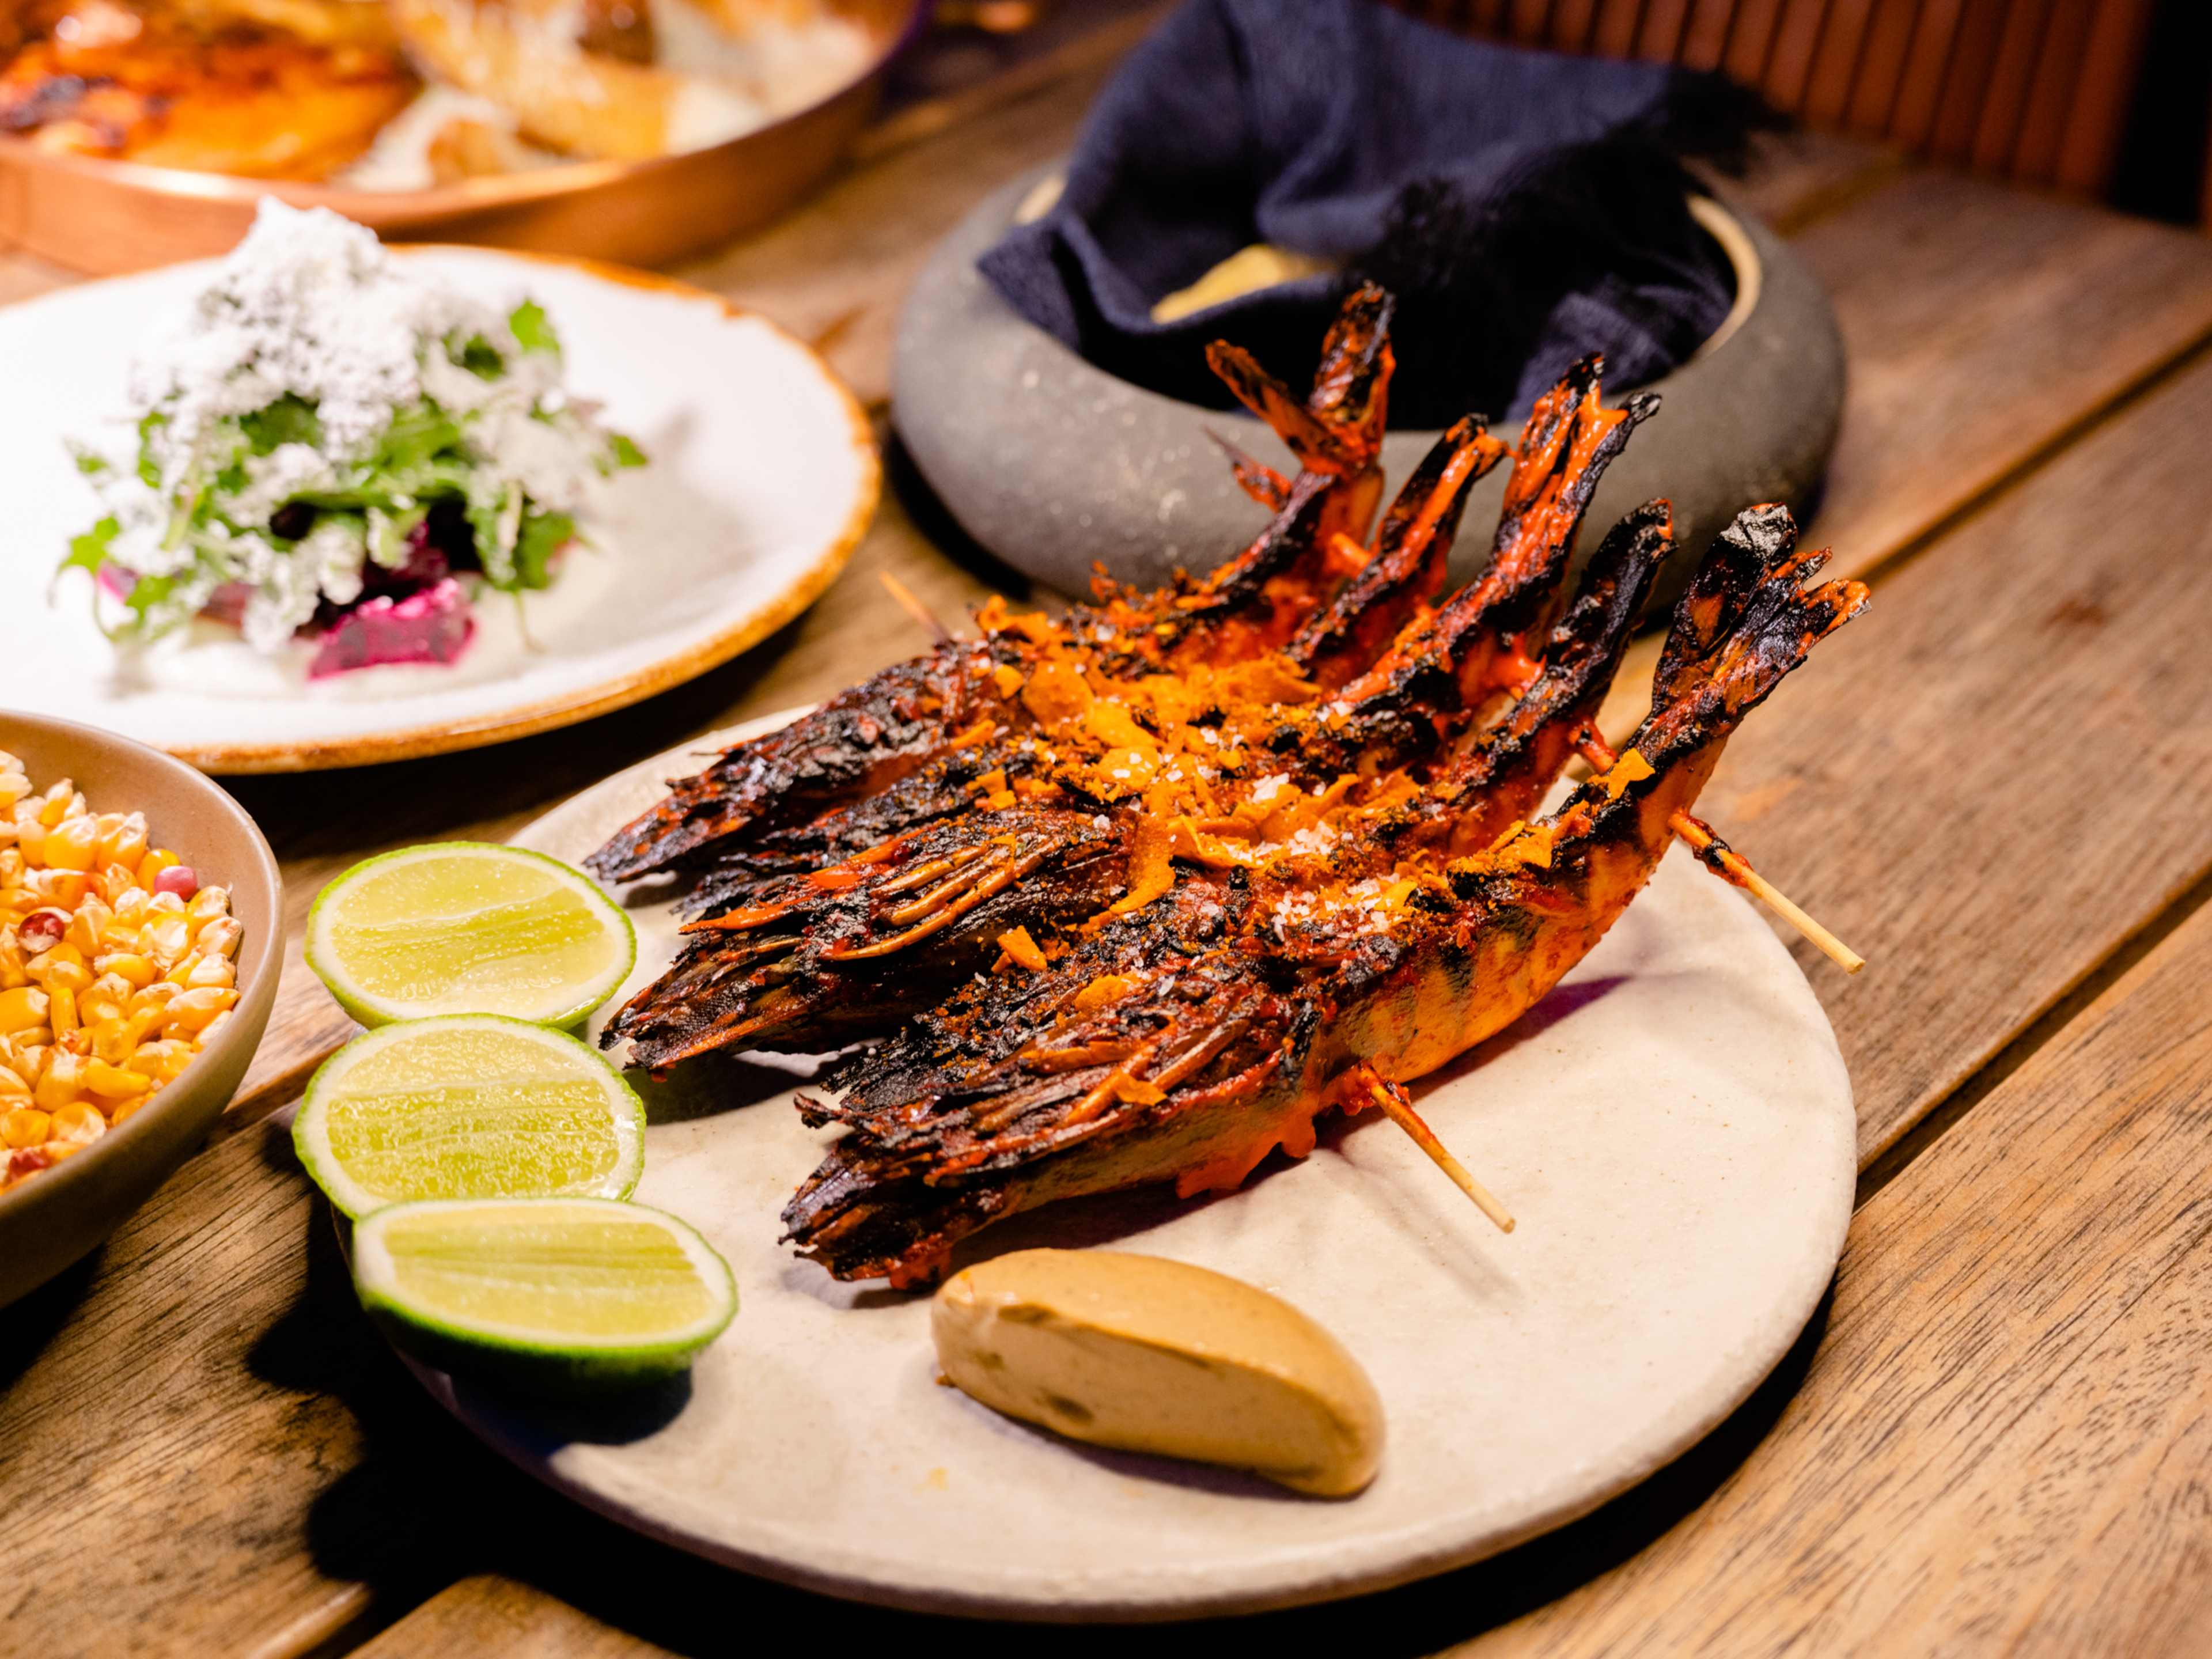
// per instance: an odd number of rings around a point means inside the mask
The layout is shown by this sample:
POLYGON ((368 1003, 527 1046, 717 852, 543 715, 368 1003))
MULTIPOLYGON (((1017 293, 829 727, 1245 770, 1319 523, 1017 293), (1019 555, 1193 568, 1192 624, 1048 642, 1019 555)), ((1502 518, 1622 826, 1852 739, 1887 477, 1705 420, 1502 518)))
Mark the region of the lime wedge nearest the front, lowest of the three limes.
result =
POLYGON ((354 1287, 416 1358, 531 1394, 675 1376, 737 1312, 706 1239, 606 1199, 394 1203, 354 1228, 354 1287))

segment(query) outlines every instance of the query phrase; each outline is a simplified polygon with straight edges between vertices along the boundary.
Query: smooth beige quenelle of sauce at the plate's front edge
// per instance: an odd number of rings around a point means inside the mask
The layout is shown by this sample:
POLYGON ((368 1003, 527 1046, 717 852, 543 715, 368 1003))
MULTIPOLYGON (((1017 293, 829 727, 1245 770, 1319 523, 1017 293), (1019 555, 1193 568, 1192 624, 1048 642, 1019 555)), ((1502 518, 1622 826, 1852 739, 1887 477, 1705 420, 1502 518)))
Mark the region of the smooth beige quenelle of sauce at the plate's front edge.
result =
POLYGON ((938 1365, 995 1411, 1121 1451, 1349 1498, 1383 1462, 1383 1400, 1345 1345, 1241 1279, 1164 1256, 1018 1250, 953 1274, 938 1365))

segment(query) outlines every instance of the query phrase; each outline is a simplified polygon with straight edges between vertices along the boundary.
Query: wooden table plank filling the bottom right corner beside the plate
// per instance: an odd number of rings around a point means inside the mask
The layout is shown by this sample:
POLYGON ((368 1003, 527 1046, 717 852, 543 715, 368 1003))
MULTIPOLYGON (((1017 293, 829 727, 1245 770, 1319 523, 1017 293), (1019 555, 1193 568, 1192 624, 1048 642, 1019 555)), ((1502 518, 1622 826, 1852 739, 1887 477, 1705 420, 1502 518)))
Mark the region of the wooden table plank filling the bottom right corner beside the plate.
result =
POLYGON ((1573 1528, 1637 1548, 1455 1652, 2203 1652, 2205 984, 2212 909, 1860 1208, 1803 1387, 1705 1502, 1573 1528))

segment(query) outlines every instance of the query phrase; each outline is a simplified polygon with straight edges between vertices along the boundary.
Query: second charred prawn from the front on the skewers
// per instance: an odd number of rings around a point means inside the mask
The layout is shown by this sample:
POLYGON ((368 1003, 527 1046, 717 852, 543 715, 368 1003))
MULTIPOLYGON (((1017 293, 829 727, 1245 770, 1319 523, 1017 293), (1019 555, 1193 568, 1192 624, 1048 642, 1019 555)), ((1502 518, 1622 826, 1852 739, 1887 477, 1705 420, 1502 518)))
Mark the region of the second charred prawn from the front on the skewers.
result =
MULTIPOLYGON (((675 967, 615 1015, 602 1042, 628 1040, 633 1062, 655 1068, 739 1042, 834 1048, 889 1033, 936 1002, 940 987, 989 967, 1013 929, 1035 945, 1035 936, 1141 911, 1177 885, 1228 869, 1265 869, 1274 885, 1352 883, 1453 836, 1482 845, 1524 816, 1566 765, 1670 546, 1663 502, 1630 513, 1606 538, 1579 597, 1544 641, 1542 672, 1504 719, 1451 759, 1433 790, 1402 774, 1374 785, 1343 776, 1310 796, 1281 774, 1274 790, 1245 790, 1241 801, 1223 783, 1221 799, 1237 810, 1199 816, 1172 810, 1172 781, 1079 799, 1097 787, 1097 761, 1053 772, 1048 783, 1015 779, 1051 794, 1053 805, 1011 807, 1004 770, 991 774, 991 799, 1009 810, 973 810, 973 783, 953 790, 909 776, 876 801, 911 810, 907 796, 927 783, 925 805, 942 814, 936 823, 810 874, 732 887, 743 902, 690 922, 675 967)), ((1155 721, 1155 730, 1168 728, 1155 721)), ((1201 737, 1219 730, 1206 726, 1201 737)), ((1130 723, 1124 737, 1141 741, 1144 732, 1130 723)), ((1214 752, 1223 748, 1214 743, 1214 752)), ((1121 770, 1137 765, 1130 750, 1121 770)))

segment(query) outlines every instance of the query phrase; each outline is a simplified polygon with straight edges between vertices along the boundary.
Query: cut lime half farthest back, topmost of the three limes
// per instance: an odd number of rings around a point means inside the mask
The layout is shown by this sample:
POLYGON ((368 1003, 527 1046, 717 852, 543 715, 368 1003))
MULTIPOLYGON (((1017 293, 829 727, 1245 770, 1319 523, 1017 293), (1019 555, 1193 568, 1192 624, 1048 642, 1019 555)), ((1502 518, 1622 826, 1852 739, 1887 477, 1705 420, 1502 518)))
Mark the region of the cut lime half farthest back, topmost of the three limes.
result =
POLYGON ((566 1026, 633 962, 630 918, 591 876, 482 841, 369 858, 307 914, 307 967, 365 1026, 434 1013, 566 1026))

